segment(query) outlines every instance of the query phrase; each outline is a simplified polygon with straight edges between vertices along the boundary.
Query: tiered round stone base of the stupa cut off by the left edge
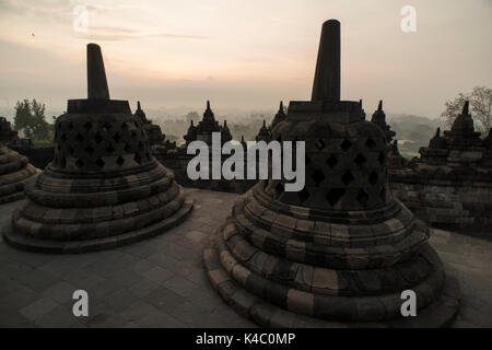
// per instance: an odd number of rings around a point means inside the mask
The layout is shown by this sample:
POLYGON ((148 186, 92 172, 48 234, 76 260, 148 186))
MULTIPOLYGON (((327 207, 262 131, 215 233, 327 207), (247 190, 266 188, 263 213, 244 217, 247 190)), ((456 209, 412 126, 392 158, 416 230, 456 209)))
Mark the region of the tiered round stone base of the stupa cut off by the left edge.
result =
POLYGON ((24 186, 39 171, 0 141, 0 205, 24 197, 24 186))

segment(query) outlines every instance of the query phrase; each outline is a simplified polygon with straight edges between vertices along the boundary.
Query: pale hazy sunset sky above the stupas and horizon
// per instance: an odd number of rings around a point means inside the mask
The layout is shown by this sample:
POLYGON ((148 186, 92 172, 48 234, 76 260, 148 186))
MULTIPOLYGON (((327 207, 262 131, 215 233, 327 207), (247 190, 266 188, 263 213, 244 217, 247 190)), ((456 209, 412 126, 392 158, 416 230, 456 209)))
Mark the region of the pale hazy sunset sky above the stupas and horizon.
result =
MULTIPOLYGON (((438 116, 492 86, 492 0, 0 0, 0 107, 86 96, 85 44, 102 46, 113 98, 150 108, 276 108, 309 100, 321 24, 341 22, 342 100, 438 116), (403 33, 403 5, 417 33, 403 33), (89 32, 73 30, 74 8, 89 32)), ((201 112, 200 109, 200 112, 201 112)))

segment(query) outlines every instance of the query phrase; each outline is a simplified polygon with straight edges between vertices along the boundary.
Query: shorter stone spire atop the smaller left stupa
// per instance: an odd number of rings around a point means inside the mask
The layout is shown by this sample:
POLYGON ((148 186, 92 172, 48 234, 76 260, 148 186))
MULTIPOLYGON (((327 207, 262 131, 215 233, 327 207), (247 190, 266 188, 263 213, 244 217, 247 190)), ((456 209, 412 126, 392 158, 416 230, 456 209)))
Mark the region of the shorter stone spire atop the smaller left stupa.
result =
POLYGON ((87 44, 87 98, 109 100, 103 54, 97 44, 87 44))

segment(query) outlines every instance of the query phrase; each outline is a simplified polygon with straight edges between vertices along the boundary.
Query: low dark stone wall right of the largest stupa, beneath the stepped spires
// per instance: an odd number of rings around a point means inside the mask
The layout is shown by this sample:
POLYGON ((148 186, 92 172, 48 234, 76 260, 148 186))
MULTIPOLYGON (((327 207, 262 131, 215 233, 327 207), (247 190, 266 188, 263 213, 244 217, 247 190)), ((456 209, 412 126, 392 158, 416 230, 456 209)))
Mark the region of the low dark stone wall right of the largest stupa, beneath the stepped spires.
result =
POLYGON ((415 215, 436 229, 492 237, 492 184, 426 183, 390 176, 390 188, 415 215))

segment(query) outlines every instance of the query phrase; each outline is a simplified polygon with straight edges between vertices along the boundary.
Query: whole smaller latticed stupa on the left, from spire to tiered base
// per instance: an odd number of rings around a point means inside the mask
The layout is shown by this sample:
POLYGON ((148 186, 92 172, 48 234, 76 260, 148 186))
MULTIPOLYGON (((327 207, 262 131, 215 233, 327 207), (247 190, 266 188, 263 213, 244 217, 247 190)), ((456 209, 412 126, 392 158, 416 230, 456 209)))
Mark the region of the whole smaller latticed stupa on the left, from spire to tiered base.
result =
POLYGON ((87 45, 87 97, 70 100, 55 126, 55 158, 26 186, 3 228, 30 250, 81 253, 132 243, 178 224, 192 200, 151 154, 128 101, 109 100, 101 48, 87 45))

